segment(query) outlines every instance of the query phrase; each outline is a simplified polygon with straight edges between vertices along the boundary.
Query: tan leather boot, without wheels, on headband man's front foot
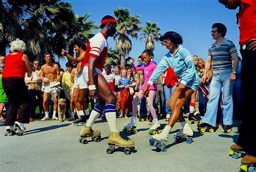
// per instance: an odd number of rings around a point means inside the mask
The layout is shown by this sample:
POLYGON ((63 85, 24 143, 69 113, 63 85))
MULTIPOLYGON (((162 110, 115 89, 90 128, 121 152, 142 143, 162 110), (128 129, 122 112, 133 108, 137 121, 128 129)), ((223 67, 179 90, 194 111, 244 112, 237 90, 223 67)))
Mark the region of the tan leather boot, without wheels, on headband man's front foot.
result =
POLYGON ((107 140, 109 145, 117 145, 121 147, 133 147, 134 142, 132 140, 125 140, 120 136, 118 132, 111 132, 109 139, 107 140))

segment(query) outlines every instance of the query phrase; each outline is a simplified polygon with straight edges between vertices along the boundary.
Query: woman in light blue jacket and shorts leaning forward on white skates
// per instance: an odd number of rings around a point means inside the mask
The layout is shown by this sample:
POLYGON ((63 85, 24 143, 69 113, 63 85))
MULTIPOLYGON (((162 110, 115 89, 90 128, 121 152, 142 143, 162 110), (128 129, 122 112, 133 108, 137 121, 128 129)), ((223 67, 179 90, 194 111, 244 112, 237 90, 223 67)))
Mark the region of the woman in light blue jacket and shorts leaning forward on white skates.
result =
POLYGON ((160 37, 160 41, 163 46, 169 49, 169 52, 163 57, 157 68, 154 70, 149 82, 147 82, 146 88, 143 90, 143 94, 147 95, 147 88, 149 88, 168 67, 171 67, 174 70, 174 73, 180 77, 180 81, 168 102, 168 105, 172 110, 169 122, 165 126, 163 132, 153 135, 152 137, 154 140, 166 145, 168 134, 176 121, 179 121, 183 127, 183 129, 176 133, 176 135, 178 137, 192 138, 193 131, 186 123, 180 109, 193 92, 198 89, 200 79, 196 73, 192 55, 184 46, 182 46, 183 39, 180 34, 173 31, 166 32, 160 37))

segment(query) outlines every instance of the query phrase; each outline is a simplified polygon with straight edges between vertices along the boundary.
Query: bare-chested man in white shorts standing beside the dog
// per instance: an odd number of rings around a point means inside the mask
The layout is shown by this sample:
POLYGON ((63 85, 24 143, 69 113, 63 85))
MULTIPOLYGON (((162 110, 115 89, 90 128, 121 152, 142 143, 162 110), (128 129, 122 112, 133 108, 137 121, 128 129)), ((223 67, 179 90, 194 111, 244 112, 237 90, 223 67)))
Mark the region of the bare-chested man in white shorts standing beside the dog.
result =
POLYGON ((41 120, 49 119, 49 112, 48 112, 48 100, 53 94, 53 114, 52 119, 58 120, 56 117, 57 113, 57 104, 58 104, 58 92, 60 91, 60 72, 58 64, 51 62, 51 55, 50 53, 44 54, 45 64, 41 67, 41 79, 43 84, 43 107, 45 112, 45 117, 41 120))

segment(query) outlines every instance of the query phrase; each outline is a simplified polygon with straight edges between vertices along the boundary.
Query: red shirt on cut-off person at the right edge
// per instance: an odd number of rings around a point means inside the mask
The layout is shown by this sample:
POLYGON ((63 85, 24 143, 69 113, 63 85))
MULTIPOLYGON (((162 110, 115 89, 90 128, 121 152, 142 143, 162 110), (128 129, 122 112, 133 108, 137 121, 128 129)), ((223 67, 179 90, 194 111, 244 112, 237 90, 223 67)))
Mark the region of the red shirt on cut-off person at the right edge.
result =
POLYGON ((239 44, 244 45, 252 38, 256 38, 256 1, 243 0, 239 13, 240 39, 239 44))

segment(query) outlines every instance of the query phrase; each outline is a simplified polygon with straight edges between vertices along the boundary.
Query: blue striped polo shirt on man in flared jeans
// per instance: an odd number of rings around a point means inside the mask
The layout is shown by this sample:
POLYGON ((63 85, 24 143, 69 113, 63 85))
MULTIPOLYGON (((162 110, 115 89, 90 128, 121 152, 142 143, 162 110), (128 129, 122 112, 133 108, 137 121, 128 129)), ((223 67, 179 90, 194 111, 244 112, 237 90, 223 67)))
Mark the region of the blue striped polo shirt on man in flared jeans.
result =
POLYGON ((208 49, 208 58, 212 59, 213 73, 231 72, 231 57, 237 54, 237 48, 235 48, 235 45, 231 40, 224 38, 219 47, 215 41, 208 49))

